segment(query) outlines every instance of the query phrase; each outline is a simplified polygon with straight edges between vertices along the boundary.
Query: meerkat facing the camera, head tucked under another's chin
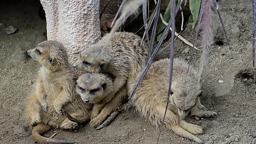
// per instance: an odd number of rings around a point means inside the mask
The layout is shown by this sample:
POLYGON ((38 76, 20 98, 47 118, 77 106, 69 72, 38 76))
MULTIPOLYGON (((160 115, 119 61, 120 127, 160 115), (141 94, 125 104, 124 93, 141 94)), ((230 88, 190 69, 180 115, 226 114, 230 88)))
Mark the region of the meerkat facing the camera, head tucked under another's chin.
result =
POLYGON ((125 102, 127 96, 126 88, 122 88, 112 95, 114 90, 113 77, 103 73, 82 74, 77 82, 76 92, 84 102, 94 104, 90 125, 95 128, 99 126, 112 112, 125 102), (120 103, 116 103, 116 101, 120 103))

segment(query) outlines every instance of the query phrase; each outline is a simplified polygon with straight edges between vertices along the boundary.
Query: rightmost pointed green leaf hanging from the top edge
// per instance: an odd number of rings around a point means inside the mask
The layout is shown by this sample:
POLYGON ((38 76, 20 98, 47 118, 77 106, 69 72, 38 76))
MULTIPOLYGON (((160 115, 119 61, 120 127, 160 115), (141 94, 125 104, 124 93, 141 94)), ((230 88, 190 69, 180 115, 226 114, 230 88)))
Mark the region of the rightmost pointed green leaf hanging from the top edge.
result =
POLYGON ((201 4, 201 0, 190 0, 189 1, 189 8, 190 8, 192 18, 193 18, 192 28, 195 28, 196 20, 198 18, 198 14, 199 14, 199 10, 200 10, 200 4, 201 4))

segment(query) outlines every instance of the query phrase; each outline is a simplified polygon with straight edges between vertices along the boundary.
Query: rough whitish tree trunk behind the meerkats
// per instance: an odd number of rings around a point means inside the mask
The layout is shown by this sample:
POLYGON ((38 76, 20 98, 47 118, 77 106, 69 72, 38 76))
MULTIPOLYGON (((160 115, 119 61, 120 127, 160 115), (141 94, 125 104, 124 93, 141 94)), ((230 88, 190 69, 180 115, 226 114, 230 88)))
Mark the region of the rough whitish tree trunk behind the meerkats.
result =
POLYGON ((47 24, 47 40, 62 42, 70 62, 100 38, 100 0, 40 0, 47 24))

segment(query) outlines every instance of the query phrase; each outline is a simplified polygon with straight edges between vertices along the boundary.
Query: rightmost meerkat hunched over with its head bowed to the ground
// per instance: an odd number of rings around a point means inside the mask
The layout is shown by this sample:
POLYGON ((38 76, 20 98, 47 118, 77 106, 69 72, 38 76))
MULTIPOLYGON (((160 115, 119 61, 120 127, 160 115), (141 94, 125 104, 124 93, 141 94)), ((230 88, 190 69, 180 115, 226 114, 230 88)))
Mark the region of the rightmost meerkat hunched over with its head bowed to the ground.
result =
MULTIPOLYGON (((141 73, 137 75, 130 88, 136 86, 140 75, 141 73)), ((154 68, 151 67, 149 69, 132 99, 132 106, 156 127, 161 126, 164 118, 169 90, 169 77, 170 59, 154 62, 154 68)), ((188 64, 184 60, 174 58, 172 93, 164 120, 164 127, 173 130, 180 136, 202 144, 202 140, 192 135, 203 133, 202 128, 184 121, 189 114, 207 118, 216 115, 216 112, 206 111, 206 108, 200 103, 201 87, 198 86, 198 78, 198 73, 192 66, 188 70, 188 64)))

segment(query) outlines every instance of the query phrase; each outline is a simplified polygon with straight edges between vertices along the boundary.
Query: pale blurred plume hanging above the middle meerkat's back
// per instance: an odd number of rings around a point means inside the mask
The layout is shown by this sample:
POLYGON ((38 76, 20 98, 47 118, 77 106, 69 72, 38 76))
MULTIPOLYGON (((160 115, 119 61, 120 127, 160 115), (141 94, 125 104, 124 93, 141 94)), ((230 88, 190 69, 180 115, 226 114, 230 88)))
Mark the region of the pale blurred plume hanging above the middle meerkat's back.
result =
POLYGON ((132 0, 132 1, 128 2, 128 4, 124 5, 124 7, 122 8, 121 16, 116 20, 113 28, 111 29, 111 31, 108 35, 108 40, 106 42, 107 44, 108 44, 108 42, 110 42, 110 39, 111 39, 112 35, 114 34, 114 32, 116 32, 116 30, 126 21, 126 19, 130 15, 138 12, 138 8, 142 5, 142 3, 144 1, 145 0, 132 0))

